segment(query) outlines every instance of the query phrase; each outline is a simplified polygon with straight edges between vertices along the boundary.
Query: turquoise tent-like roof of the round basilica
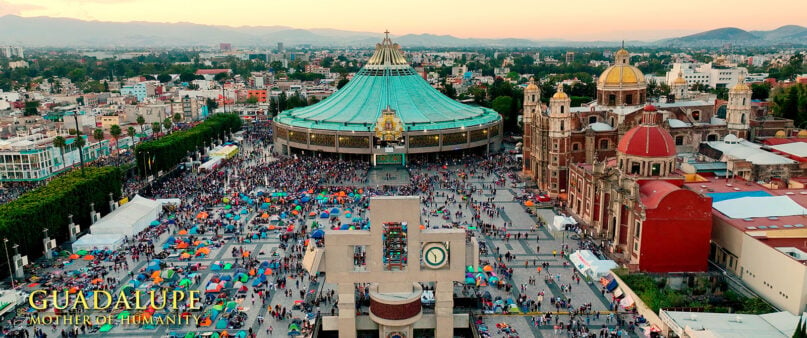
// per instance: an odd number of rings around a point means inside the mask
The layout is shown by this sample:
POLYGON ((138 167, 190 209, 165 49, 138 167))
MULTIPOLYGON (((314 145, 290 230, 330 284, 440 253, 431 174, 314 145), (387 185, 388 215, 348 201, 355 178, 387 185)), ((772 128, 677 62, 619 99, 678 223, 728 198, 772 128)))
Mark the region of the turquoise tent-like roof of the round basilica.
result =
POLYGON ((412 69, 389 36, 341 90, 308 107, 283 111, 275 121, 295 127, 370 131, 390 108, 411 131, 471 127, 501 121, 494 110, 443 95, 412 69))

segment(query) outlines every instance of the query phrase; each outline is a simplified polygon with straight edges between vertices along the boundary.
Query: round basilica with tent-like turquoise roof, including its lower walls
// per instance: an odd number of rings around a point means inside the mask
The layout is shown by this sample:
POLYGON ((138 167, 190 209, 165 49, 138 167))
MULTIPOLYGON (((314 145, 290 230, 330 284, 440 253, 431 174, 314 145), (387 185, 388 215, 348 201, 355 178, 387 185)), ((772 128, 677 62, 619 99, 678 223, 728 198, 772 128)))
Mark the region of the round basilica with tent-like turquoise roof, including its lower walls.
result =
POLYGON ((274 139, 283 154, 350 154, 374 165, 405 164, 445 152, 498 151, 502 117, 434 89, 387 35, 342 89, 315 105, 281 112, 274 139))

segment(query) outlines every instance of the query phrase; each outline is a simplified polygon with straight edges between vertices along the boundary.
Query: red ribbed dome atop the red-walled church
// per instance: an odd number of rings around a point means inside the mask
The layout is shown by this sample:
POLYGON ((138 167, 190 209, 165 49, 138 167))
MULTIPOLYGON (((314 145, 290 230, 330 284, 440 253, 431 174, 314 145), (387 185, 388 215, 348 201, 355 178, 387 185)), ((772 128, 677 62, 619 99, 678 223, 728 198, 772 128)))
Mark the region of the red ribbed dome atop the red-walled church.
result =
POLYGON ((619 140, 617 151, 641 157, 669 157, 676 154, 672 135, 654 125, 639 125, 628 130, 619 140))

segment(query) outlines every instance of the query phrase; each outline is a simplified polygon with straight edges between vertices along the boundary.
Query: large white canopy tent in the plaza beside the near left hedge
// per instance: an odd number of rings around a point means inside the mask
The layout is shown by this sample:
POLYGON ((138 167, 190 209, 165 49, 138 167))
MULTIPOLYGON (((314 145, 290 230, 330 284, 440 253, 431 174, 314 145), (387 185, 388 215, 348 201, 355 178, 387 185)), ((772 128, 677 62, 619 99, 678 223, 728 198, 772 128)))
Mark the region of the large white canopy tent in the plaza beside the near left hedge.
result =
POLYGON ((93 235, 134 236, 146 229, 160 215, 162 203, 135 196, 129 203, 110 212, 90 227, 93 235))

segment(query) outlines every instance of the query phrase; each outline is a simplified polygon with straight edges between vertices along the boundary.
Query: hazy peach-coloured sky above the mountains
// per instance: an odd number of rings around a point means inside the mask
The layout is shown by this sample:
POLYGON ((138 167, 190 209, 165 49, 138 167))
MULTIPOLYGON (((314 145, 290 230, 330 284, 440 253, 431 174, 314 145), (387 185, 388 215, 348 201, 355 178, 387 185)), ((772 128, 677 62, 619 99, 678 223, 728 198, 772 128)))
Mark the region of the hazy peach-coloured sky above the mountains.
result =
POLYGON ((807 0, 0 0, 0 15, 335 28, 393 35, 646 40, 807 25, 807 0))

